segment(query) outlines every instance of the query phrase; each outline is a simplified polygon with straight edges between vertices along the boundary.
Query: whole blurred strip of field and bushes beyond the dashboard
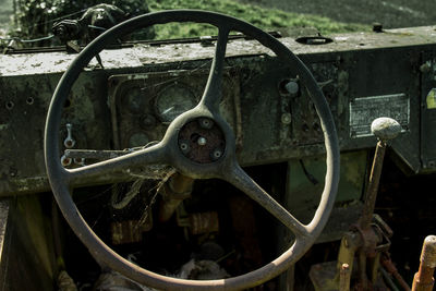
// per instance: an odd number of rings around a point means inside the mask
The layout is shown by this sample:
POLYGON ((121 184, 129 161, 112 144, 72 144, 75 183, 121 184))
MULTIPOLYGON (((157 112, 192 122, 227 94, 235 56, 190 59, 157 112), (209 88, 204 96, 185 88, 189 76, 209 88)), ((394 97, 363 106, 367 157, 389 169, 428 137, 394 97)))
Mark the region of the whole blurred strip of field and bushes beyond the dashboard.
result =
MULTIPOLYGON (((323 35, 370 31, 374 22, 386 28, 436 23, 434 0, 0 0, 0 36, 44 37, 55 22, 78 19, 87 8, 102 2, 119 7, 130 16, 202 9, 245 20, 266 31, 315 27, 323 35)), ((175 23, 158 25, 155 32, 155 39, 216 34, 209 25, 175 23)))

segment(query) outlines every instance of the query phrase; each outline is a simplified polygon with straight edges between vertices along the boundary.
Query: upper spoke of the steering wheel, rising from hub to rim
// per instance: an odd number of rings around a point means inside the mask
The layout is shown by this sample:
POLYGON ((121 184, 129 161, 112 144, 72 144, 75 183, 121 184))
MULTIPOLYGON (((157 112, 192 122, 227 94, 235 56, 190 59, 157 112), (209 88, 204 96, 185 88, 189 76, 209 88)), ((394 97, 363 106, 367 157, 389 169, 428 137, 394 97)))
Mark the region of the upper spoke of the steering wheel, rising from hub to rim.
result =
POLYGON ((218 40, 215 47, 215 56, 210 66, 209 77, 203 93, 201 104, 211 112, 218 111, 222 99, 222 73, 225 66, 226 49, 230 29, 227 26, 218 26, 218 40))

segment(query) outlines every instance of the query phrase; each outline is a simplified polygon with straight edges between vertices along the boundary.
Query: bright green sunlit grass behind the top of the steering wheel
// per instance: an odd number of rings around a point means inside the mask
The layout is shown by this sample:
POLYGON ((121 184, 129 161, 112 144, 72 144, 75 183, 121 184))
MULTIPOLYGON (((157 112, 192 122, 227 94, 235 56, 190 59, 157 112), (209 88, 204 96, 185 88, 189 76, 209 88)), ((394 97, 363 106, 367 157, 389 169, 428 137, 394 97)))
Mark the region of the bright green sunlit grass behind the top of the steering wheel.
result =
MULTIPOLYGON (((152 11, 169 9, 201 9, 229 14, 250 22, 265 31, 277 31, 288 27, 315 27, 323 35, 332 33, 361 32, 368 29, 362 24, 340 23, 327 17, 311 14, 283 12, 231 0, 148 0, 152 11)), ((157 39, 216 35, 214 26, 203 24, 171 23, 155 26, 157 39)))

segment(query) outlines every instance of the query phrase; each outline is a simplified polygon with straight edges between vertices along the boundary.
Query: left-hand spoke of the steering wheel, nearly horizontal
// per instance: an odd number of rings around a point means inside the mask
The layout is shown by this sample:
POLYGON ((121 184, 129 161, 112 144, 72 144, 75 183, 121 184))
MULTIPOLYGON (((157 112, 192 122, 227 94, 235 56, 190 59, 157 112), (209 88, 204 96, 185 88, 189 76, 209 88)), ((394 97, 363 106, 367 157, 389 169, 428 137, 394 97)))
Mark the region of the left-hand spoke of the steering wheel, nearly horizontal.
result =
POLYGON ((87 181, 98 181, 101 178, 108 180, 108 175, 111 177, 120 173, 129 177, 130 172, 135 168, 141 168, 145 165, 164 165, 168 163, 168 160, 167 147, 159 143, 113 159, 65 170, 65 178, 71 185, 74 185, 87 181))

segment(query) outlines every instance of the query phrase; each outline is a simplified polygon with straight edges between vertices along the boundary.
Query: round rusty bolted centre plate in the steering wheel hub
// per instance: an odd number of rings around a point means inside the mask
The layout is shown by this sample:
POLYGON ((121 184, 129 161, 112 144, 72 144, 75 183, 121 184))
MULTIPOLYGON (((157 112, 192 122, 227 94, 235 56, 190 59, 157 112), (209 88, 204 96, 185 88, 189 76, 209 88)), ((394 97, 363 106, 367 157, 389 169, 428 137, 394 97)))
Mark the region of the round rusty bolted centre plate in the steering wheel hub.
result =
POLYGON ((213 120, 195 119, 180 130, 179 149, 192 161, 210 163, 219 160, 225 154, 225 134, 213 120))

